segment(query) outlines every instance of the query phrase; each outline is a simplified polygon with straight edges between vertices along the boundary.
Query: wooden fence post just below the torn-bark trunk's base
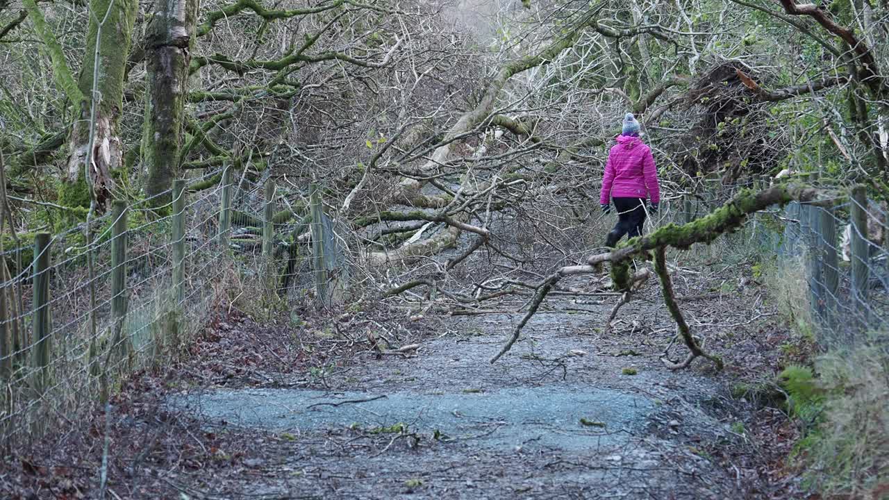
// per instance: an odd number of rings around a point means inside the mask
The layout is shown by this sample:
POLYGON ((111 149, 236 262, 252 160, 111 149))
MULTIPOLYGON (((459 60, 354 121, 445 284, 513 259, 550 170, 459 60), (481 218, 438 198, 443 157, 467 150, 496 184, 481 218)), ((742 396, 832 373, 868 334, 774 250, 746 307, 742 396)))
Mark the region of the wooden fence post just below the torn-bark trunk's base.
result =
POLYGON ((120 350, 121 358, 132 354, 132 339, 124 337, 126 317, 126 202, 114 200, 111 205, 111 318, 114 319, 112 347, 120 350))

